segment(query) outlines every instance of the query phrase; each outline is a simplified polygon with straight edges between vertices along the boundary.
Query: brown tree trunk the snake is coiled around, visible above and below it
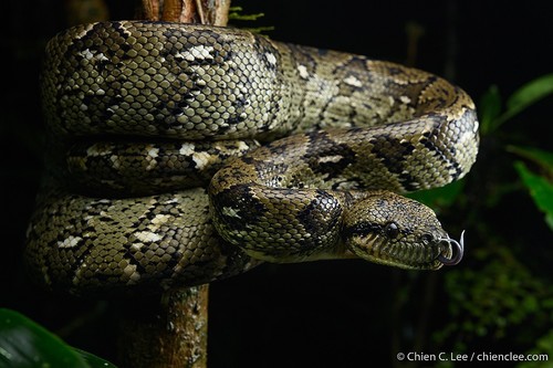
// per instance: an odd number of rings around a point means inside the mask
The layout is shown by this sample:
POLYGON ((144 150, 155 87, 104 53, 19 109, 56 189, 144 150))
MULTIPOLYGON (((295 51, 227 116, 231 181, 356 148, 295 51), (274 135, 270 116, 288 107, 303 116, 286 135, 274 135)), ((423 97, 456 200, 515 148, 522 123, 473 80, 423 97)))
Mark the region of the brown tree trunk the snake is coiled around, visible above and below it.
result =
MULTIPOLYGON (((142 0, 137 19, 226 25, 230 0, 142 0)), ((118 357, 129 368, 206 368, 208 285, 135 301, 121 323, 118 357)))

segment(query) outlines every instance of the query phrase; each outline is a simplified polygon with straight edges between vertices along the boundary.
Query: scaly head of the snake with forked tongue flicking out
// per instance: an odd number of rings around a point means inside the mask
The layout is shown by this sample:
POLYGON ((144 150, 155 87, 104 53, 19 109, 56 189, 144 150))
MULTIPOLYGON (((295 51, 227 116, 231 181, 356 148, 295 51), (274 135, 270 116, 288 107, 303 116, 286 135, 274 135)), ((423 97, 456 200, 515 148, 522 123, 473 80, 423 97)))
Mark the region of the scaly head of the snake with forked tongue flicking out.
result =
POLYGON ((344 243, 364 260, 409 270, 459 263, 463 234, 456 241, 425 204, 389 191, 374 191, 344 213, 344 243))

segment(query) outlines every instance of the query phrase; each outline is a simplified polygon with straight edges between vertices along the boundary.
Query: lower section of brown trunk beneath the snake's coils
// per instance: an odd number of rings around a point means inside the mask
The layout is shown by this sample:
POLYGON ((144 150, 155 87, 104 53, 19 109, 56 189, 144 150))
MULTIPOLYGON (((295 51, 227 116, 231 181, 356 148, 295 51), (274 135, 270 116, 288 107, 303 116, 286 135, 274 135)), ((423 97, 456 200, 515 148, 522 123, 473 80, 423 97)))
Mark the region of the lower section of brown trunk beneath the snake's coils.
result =
POLYGON ((132 301, 118 335, 123 367, 205 368, 208 285, 169 291, 161 299, 132 301))

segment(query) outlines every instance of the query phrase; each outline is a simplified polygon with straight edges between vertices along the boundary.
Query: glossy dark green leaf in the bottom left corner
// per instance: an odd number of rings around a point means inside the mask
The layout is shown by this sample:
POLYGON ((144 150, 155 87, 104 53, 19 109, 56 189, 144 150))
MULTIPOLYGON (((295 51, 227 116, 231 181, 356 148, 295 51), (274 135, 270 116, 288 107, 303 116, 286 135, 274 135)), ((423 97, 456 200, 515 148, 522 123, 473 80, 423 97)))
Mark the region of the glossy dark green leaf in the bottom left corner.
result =
POLYGON ((76 350, 18 312, 0 308, 0 367, 115 367, 76 350))

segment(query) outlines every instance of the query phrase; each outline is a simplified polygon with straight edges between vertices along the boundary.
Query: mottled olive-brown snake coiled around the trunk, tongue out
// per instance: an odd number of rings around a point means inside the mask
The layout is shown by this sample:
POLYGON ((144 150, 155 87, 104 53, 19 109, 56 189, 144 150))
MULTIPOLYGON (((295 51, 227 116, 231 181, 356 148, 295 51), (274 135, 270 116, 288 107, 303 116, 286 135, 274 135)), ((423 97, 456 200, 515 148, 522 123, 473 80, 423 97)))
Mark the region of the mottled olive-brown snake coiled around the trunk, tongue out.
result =
POLYGON ((264 262, 459 263, 404 196, 469 172, 474 104, 399 63, 231 27, 61 31, 41 73, 45 174, 31 277, 74 295, 159 293, 264 262))

